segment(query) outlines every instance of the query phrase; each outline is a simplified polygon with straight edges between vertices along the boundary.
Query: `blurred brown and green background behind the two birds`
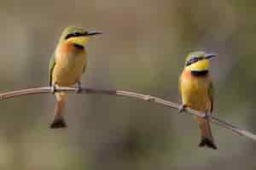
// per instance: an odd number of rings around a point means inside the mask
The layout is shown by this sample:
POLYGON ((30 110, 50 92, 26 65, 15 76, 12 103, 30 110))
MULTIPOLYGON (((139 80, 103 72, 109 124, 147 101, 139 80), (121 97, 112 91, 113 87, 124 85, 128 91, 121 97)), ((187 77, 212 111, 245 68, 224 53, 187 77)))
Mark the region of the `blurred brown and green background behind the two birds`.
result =
MULTIPOLYGON (((215 115, 256 133, 253 0, 9 0, 0 2, 1 91, 48 85, 49 57, 66 26, 102 30, 88 45, 83 84, 180 102, 178 77, 194 50, 212 60, 215 115)), ((0 103, 1 169, 256 168, 256 145, 212 125, 218 150, 198 148, 191 116, 137 99, 70 94, 68 128, 49 129, 55 97, 0 103)))

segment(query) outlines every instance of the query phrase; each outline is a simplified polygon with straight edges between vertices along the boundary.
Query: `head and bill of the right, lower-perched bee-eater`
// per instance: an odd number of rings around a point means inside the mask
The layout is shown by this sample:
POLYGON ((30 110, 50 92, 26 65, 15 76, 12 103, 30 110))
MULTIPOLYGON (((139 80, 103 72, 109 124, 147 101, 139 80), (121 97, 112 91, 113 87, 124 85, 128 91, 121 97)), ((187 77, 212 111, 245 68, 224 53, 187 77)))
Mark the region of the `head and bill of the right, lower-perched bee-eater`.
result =
POLYGON ((217 54, 206 54, 202 51, 190 53, 185 61, 185 70, 187 71, 208 71, 210 67, 209 59, 217 54))

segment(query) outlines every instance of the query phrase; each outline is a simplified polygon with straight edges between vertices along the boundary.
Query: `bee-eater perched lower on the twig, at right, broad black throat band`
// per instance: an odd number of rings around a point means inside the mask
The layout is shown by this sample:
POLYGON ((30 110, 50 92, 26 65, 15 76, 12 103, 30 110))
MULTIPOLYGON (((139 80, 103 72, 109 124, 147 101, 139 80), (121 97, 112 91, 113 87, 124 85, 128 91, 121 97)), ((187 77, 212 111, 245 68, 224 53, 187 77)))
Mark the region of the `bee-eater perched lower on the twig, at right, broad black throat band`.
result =
MULTIPOLYGON (((182 108, 189 107, 202 113, 212 113, 213 110, 213 87, 209 76, 209 59, 216 54, 205 52, 190 53, 185 61, 185 66, 179 80, 180 93, 182 95, 182 108)), ((200 147, 207 146, 217 150, 212 137, 210 122, 207 118, 195 116, 201 128, 200 147)))

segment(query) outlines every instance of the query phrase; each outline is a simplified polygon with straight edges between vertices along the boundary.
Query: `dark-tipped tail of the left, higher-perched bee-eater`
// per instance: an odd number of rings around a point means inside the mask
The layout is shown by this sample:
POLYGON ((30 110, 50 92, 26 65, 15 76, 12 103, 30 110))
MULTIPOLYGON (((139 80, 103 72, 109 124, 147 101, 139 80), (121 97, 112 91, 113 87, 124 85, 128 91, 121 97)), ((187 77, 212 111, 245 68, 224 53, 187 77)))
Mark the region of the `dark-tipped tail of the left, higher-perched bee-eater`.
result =
POLYGON ((56 93, 55 96, 57 99, 57 102, 55 105, 55 117, 53 122, 51 122, 50 124, 50 128, 64 128, 64 127, 67 127, 67 124, 63 116, 63 110, 65 108, 67 94, 56 93))

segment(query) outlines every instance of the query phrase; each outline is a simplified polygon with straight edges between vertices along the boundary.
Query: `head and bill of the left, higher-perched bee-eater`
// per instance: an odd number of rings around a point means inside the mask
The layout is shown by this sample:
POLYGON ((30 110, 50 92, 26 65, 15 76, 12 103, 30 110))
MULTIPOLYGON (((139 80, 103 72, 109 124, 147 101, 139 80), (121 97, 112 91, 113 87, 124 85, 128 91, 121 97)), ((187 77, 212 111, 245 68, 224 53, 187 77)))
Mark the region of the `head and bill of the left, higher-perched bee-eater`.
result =
POLYGON ((86 31, 84 28, 68 26, 61 34, 60 42, 72 42, 84 47, 90 39, 90 36, 102 34, 102 31, 86 31))

